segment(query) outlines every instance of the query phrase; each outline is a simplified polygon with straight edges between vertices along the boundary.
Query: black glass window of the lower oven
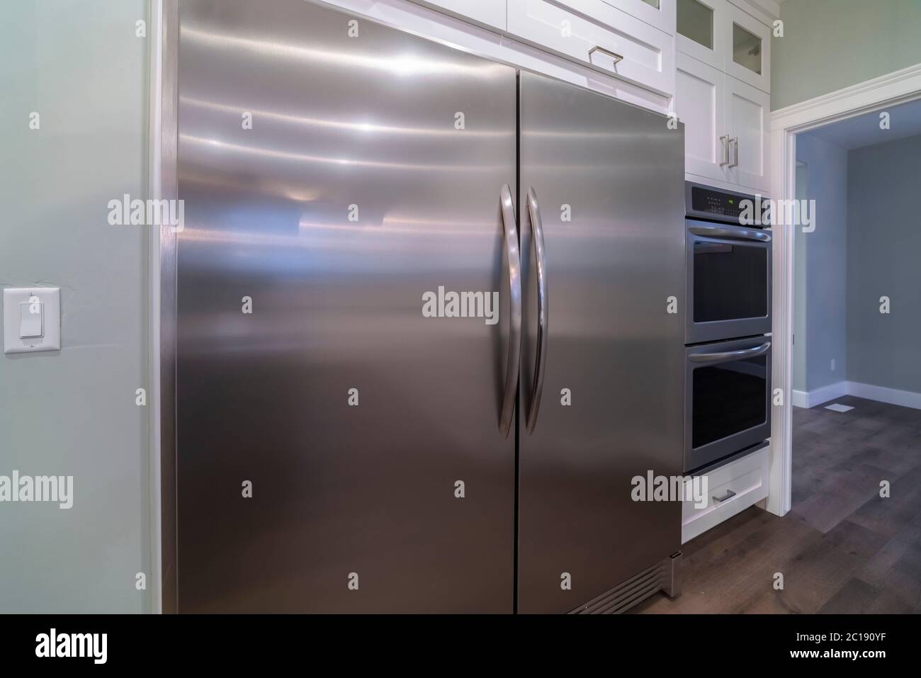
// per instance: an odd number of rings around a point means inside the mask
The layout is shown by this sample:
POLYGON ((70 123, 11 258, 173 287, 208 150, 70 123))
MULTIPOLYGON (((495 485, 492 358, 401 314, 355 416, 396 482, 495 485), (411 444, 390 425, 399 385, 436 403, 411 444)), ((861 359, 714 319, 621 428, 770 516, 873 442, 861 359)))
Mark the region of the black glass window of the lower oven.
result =
POLYGON ((694 449, 764 424, 767 357, 750 357, 694 368, 694 449))

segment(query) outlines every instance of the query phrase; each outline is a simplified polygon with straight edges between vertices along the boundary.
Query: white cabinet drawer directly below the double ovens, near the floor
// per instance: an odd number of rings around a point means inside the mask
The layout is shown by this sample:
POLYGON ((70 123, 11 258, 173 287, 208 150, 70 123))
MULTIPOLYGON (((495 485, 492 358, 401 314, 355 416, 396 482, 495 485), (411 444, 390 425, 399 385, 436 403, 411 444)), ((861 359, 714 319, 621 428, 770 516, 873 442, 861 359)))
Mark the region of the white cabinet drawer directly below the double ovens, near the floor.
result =
MULTIPOLYGON (((707 473, 706 505, 682 503, 682 544, 767 497, 768 450, 758 450, 707 473)), ((692 482, 685 479, 685 485, 692 482)), ((685 497, 691 496, 685 487, 685 497)))

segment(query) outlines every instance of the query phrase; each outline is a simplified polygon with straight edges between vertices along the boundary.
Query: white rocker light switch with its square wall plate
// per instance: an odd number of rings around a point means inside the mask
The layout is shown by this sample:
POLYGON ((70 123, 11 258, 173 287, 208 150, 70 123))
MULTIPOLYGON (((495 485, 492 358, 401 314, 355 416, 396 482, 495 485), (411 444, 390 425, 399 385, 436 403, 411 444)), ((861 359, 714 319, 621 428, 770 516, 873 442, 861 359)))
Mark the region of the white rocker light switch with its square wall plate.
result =
POLYGON ((6 287, 3 291, 4 353, 61 348, 61 288, 6 287))

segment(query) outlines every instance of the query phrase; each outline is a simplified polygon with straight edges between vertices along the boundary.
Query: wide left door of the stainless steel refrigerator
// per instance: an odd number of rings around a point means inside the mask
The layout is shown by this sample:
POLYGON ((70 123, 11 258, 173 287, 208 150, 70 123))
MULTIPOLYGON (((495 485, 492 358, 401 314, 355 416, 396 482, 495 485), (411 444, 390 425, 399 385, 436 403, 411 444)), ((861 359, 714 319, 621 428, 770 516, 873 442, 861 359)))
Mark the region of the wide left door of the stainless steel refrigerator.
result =
POLYGON ((511 612, 514 69, 304 0, 180 25, 180 611, 511 612))

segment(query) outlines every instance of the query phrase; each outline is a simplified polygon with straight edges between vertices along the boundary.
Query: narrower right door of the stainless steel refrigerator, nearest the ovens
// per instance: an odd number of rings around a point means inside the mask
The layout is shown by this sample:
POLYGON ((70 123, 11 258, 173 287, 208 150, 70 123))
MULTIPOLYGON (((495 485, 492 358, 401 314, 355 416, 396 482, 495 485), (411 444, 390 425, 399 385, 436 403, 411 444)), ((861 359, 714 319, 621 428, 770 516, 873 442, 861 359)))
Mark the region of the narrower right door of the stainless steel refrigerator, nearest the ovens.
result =
POLYGON ((682 473, 683 125, 522 71, 519 134, 518 609, 565 613, 681 548, 635 478, 682 473))

